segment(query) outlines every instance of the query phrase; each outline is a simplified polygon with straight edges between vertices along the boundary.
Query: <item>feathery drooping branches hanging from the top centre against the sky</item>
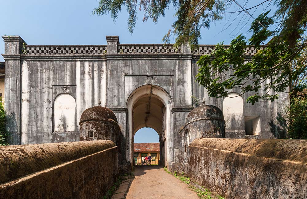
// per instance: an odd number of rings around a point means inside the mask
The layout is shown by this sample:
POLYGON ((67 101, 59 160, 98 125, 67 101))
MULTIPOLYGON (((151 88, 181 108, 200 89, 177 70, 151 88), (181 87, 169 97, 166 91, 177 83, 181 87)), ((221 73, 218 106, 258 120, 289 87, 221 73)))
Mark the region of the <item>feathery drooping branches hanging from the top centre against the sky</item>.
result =
POLYGON ((165 16, 165 10, 169 6, 176 9, 177 20, 164 36, 163 41, 169 43, 169 38, 176 35, 176 45, 189 42, 192 46, 201 38, 202 28, 209 28, 211 21, 222 19, 221 13, 231 1, 223 0, 99 0, 99 6, 93 10, 93 14, 106 15, 111 13, 114 21, 119 12, 125 6, 128 17, 128 29, 132 33, 138 18, 138 11, 143 12, 143 22, 151 19, 157 23, 159 17, 165 16))

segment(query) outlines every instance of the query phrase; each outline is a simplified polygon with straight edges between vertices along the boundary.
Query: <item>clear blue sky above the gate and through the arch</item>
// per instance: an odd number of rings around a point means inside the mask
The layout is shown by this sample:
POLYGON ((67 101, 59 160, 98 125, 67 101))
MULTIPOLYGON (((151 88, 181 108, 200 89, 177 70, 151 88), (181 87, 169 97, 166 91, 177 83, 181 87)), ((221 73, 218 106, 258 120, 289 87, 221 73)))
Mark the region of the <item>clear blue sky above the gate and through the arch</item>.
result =
MULTIPOLYGON (((247 0, 238 0, 244 5, 247 0)), ((249 1, 252 7, 262 1, 249 1)), ((98 6, 96 0, 0 0, 0 35, 20 35, 29 45, 82 45, 107 44, 106 35, 118 35, 120 43, 162 43, 163 36, 175 21, 174 9, 166 11, 165 17, 157 24, 148 20, 142 22, 139 12, 133 34, 127 30, 127 12, 122 8, 118 21, 113 22, 110 15, 95 16, 92 10, 98 6)), ((260 6, 250 13, 257 17, 264 7, 260 6), (254 12, 255 11, 255 12, 254 12)), ((274 6, 270 6, 274 11, 274 6)), ((233 4, 231 11, 239 6, 233 4)), ((252 19, 245 13, 225 14, 221 21, 211 24, 210 29, 201 31, 200 44, 216 44, 230 41, 239 33, 248 32, 252 19), (247 24, 247 25, 245 25, 247 24)), ((247 34, 247 38, 251 34, 247 34)), ((174 38, 171 42, 174 41, 174 38)), ((0 54, 4 53, 4 42, 0 39, 0 54)), ((0 62, 4 61, 0 56, 0 62)), ((142 129, 136 133, 135 142, 158 142, 158 135, 153 129, 142 129)))

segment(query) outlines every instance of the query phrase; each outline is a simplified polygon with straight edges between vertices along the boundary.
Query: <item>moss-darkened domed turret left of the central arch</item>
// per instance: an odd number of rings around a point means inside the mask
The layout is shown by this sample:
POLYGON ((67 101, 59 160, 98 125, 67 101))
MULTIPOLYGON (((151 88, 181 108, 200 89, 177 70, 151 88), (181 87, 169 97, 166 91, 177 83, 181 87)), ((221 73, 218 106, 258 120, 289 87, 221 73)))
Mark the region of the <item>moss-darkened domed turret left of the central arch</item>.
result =
POLYGON ((111 140, 118 146, 119 125, 113 111, 99 105, 86 109, 80 118, 80 141, 111 140))

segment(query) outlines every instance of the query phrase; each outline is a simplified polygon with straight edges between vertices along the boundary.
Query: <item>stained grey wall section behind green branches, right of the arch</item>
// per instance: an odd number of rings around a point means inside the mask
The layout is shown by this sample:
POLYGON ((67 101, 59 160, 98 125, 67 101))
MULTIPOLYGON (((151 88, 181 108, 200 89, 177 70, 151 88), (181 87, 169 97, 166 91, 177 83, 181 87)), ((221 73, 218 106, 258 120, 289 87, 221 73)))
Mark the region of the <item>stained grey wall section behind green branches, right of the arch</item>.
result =
MULTIPOLYGON (((196 58, 196 57, 195 57, 196 58)), ((249 57, 247 57, 249 59, 249 57)), ((192 60, 192 77, 195 77, 198 73, 199 67, 197 66, 197 60, 192 60)), ((269 80, 262 83, 264 87, 265 84, 269 83, 269 80)), ((252 81, 248 80, 247 84, 252 85, 252 81)), ((259 90, 258 93, 260 95, 264 95, 266 91, 259 90)), ((226 137, 228 138, 260 138, 260 139, 268 139, 268 138, 280 138, 282 134, 286 133, 287 125, 285 123, 281 123, 279 118, 283 117, 283 107, 285 107, 289 103, 288 90, 286 92, 278 93, 278 100, 274 102, 267 100, 259 100, 259 102, 252 105, 251 103, 247 103, 246 100, 249 96, 256 94, 255 92, 246 92, 244 94, 241 93, 241 89, 235 88, 232 90, 228 90, 229 94, 239 94, 243 99, 243 115, 236 115, 235 117, 229 117, 233 121, 228 119, 228 116, 225 115, 225 110, 223 110, 223 102, 225 98, 209 98, 208 91, 206 88, 200 86, 198 82, 192 81, 192 93, 193 96, 199 99, 201 102, 203 99, 206 104, 214 105, 219 107, 225 117, 225 122, 230 123, 230 125, 225 126, 226 137), (244 117, 251 116, 259 116, 260 123, 260 133, 258 135, 245 135, 244 131, 244 117), (243 121, 242 121, 243 120, 243 121), (243 122, 243 124, 242 124, 243 122), (240 128, 236 124, 239 124, 240 128)), ((273 95, 273 92, 269 92, 270 95, 273 95)), ((226 97, 227 98, 227 97, 226 97)), ((227 102, 237 106, 237 99, 230 98, 227 99, 227 102)))

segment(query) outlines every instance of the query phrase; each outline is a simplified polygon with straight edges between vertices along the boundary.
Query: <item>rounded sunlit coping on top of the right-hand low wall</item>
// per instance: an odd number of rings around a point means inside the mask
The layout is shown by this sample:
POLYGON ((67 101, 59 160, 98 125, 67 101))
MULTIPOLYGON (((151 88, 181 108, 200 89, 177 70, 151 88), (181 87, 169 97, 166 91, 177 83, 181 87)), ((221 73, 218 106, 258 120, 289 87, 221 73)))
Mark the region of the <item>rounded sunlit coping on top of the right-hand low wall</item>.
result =
POLYGON ((197 138, 191 146, 307 164, 307 140, 197 138))

